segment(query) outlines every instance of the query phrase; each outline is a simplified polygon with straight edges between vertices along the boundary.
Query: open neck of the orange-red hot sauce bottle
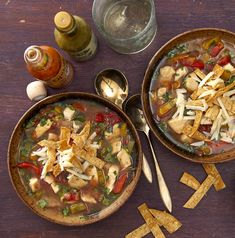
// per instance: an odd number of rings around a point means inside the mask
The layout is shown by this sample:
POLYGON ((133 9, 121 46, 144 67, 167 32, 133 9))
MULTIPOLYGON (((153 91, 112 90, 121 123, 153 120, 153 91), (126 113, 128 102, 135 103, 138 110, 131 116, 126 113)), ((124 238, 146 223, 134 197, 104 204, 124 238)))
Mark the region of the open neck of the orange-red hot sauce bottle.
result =
POLYGON ((39 46, 30 46, 25 50, 24 60, 31 66, 42 69, 48 61, 47 54, 39 46))

